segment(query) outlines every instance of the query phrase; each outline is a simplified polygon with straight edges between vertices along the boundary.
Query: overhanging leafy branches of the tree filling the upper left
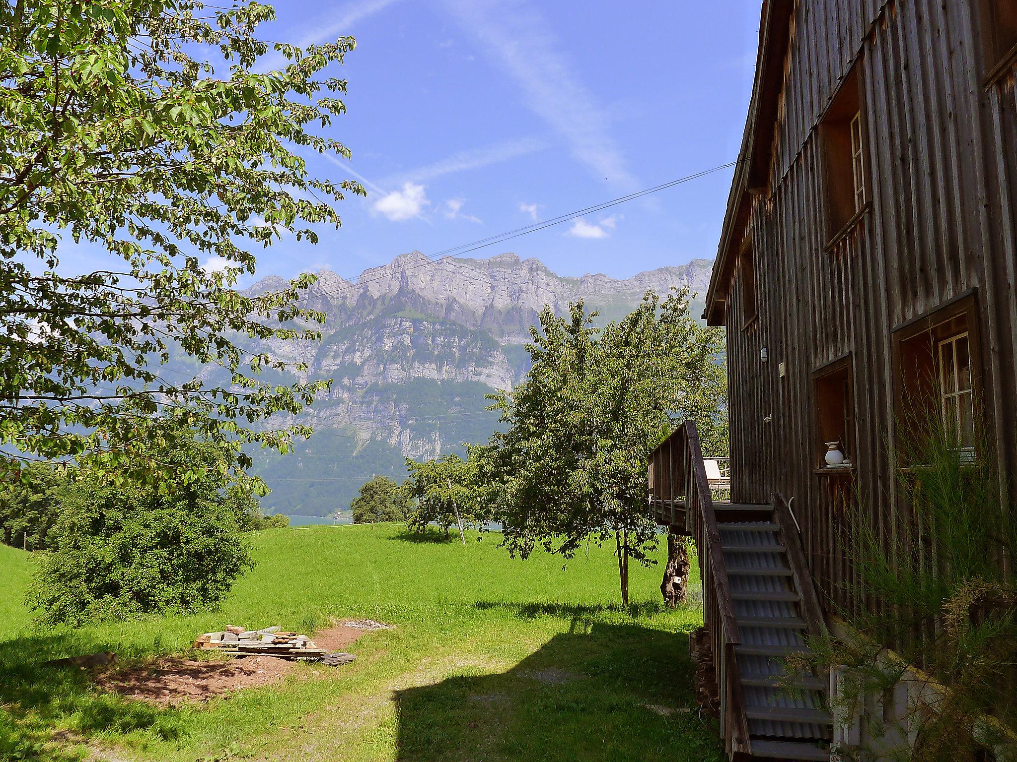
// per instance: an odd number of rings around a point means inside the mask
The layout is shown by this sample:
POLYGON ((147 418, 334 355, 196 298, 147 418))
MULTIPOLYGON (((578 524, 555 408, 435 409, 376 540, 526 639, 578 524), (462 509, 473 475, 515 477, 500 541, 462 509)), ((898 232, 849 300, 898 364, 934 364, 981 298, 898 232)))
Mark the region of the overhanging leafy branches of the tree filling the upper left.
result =
POLYGON ((274 342, 317 336, 322 316, 298 299, 313 276, 234 287, 254 272, 248 247, 314 242, 312 226, 340 224, 330 204, 364 192, 305 164, 349 156, 312 129, 345 111, 346 82, 319 75, 354 41, 270 46, 255 29, 274 16, 250 0, 0 4, 0 443, 22 453, 0 466, 71 457, 172 479, 146 443, 173 408, 238 452, 309 433, 264 419, 327 384, 258 374, 288 368, 274 342), (105 250, 108 268, 68 274, 68 241, 105 250), (225 373, 171 377, 171 356, 225 373))

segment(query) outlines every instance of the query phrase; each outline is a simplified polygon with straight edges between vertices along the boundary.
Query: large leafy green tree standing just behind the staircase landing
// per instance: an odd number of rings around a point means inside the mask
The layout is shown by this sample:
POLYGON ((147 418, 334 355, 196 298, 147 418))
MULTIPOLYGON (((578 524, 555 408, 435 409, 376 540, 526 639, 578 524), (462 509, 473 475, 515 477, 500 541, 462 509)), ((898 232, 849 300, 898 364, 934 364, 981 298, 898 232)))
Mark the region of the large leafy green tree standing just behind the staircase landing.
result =
POLYGON ((677 420, 725 438, 723 334, 690 315, 687 291, 662 302, 649 293, 603 330, 595 316, 582 302, 567 318, 541 313, 530 373, 494 396, 506 428, 482 470, 513 555, 527 558, 539 544, 569 559, 587 543, 611 542, 627 605, 630 561, 650 565, 658 539, 647 456, 677 420))

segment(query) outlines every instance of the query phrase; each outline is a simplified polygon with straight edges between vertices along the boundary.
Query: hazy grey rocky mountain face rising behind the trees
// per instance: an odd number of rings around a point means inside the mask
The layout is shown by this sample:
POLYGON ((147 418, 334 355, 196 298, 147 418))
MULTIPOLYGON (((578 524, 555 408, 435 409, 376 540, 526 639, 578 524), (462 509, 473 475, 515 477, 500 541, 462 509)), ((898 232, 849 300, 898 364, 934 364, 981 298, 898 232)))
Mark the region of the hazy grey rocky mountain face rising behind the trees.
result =
MULTIPOLYGON (((308 366, 307 378, 333 379, 305 411, 314 436, 288 456, 260 456, 255 472, 273 493, 265 507, 293 515, 345 510, 374 473, 405 474, 404 458, 462 451, 485 440, 496 416, 485 394, 512 388, 529 369, 525 343, 545 305, 563 314, 585 300, 599 322, 629 312, 647 291, 687 285, 704 295, 709 260, 620 280, 562 277, 535 259, 443 259, 419 252, 365 270, 356 282, 331 271, 304 304, 325 315, 320 342, 268 342, 262 348, 308 366)), ((266 277, 250 291, 277 289, 266 277)), ((694 298, 694 314, 702 302, 694 298)))

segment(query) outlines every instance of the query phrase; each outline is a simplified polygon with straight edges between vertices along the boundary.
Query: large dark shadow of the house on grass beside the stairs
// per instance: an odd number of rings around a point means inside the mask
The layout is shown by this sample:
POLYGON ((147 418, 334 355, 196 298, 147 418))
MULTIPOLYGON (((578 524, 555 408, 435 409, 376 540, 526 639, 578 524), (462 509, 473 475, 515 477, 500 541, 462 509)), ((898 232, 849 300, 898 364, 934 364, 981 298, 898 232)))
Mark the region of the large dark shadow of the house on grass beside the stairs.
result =
POLYGON ((578 617, 507 672, 398 691, 398 759, 721 762, 693 670, 684 634, 578 617))

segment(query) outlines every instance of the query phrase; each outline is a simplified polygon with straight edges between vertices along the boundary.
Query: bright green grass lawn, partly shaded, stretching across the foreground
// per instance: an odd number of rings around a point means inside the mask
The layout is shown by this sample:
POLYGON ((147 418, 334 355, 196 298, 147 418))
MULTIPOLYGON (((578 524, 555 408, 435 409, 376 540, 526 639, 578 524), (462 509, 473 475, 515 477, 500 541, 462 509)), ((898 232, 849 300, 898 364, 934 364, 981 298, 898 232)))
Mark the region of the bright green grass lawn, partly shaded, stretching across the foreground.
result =
POLYGON ((221 612, 77 631, 32 623, 29 559, 0 546, 0 759, 723 759, 694 708, 685 633, 701 615, 662 609, 660 566, 633 568, 622 611, 608 549, 562 569, 542 553, 512 560, 498 538, 268 530, 221 612), (177 708, 40 666, 107 648, 143 663, 226 624, 309 632, 339 618, 393 629, 353 644, 352 664, 298 664, 277 685, 177 708))

